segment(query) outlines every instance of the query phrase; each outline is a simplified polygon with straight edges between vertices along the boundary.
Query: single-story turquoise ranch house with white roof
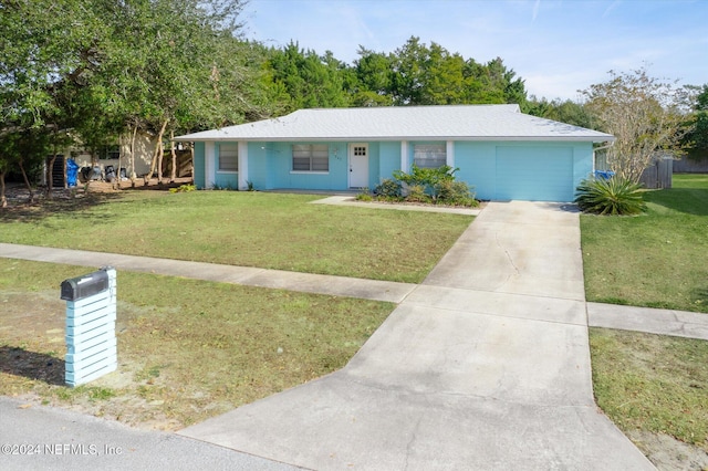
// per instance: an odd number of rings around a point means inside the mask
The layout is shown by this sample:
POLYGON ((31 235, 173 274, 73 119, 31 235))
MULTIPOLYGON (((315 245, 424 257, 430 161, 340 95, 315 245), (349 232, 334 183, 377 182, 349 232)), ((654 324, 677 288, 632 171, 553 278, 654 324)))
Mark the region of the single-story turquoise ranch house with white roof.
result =
POLYGON ((301 109, 180 136, 195 185, 258 190, 375 188, 394 170, 449 165, 479 199, 572 201, 614 137, 530 116, 518 105, 301 109))

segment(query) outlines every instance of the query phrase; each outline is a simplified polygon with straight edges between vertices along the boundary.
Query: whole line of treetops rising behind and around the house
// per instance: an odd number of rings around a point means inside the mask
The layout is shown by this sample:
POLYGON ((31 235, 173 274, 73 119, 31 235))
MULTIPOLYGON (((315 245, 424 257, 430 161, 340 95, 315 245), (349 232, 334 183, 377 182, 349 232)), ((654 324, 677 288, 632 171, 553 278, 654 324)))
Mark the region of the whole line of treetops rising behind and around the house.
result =
MULTIPOLYGON (((642 158, 680 134, 679 109, 666 101, 675 90, 645 71, 613 73, 584 92, 586 103, 539 101, 527 97, 523 78, 501 57, 480 63, 417 36, 391 52, 360 46, 352 64, 296 41, 246 41, 246 1, 0 0, 0 184, 71 139, 95 153, 138 132, 163 143, 174 133, 309 107, 516 103, 641 142, 632 153, 642 158), (621 123, 631 109, 645 127, 625 136, 621 123), (18 153, 19 143, 33 151, 18 153)), ((708 148, 708 85, 695 92, 686 142, 708 148)), ((615 150, 616 158, 626 155, 615 150)), ((158 148, 153 169, 162 155, 158 148)))

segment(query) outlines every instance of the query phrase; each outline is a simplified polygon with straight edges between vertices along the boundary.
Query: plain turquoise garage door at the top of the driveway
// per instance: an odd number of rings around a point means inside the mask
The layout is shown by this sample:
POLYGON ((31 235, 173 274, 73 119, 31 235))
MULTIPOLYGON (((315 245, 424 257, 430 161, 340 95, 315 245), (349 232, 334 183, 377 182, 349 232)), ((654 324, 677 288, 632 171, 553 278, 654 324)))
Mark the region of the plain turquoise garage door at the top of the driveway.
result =
POLYGON ((572 147, 497 147, 498 200, 572 201, 572 147))

